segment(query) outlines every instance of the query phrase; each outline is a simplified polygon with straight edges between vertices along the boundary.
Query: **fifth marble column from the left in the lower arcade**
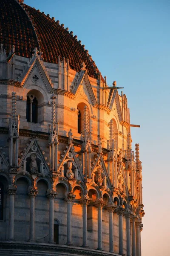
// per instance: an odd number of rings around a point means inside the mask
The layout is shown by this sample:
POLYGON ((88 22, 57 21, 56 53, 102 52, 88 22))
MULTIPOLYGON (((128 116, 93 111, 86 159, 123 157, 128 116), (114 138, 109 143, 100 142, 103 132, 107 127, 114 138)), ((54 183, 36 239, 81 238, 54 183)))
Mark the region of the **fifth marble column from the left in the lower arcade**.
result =
POLYGON ((88 204, 91 198, 82 198, 82 247, 88 248, 88 204))

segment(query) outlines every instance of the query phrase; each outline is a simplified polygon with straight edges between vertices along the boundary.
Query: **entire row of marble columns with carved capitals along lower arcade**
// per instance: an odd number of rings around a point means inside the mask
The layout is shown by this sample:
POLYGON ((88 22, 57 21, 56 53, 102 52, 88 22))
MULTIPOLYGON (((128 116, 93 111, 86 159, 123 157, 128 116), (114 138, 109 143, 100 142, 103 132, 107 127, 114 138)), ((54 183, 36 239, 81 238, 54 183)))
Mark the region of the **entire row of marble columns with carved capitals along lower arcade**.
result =
MULTIPOLYGON (((9 241, 14 241, 14 195, 17 192, 17 187, 11 185, 8 188, 9 195, 9 241)), ((31 187, 28 195, 30 197, 30 230, 29 240, 35 242, 35 197, 37 196, 37 187, 31 187)), ((54 198, 57 192, 54 189, 48 189, 47 197, 49 198, 49 243, 54 243, 54 198)), ((68 193, 66 198, 67 201, 67 243, 66 245, 72 244, 72 202, 75 198, 73 193, 68 193)), ((82 198, 82 247, 88 247, 88 225, 87 225, 87 207, 90 203, 90 198, 82 198)), ((96 201, 94 206, 98 209, 98 250, 102 249, 102 208, 105 206, 102 200, 96 201)), ((127 238, 127 254, 126 256, 141 256, 141 230, 142 224, 136 216, 130 212, 125 212, 122 207, 115 207, 114 204, 105 206, 109 213, 109 251, 114 252, 114 230, 113 230, 113 212, 115 211, 119 215, 119 254, 123 254, 123 215, 126 217, 126 238, 127 238), (137 221, 136 221, 137 220, 137 221), (132 226, 132 235, 131 227, 132 226), (132 238, 132 239, 131 239, 132 238), (132 243, 132 247, 131 247, 132 243), (132 252, 131 252, 132 248, 132 252)))

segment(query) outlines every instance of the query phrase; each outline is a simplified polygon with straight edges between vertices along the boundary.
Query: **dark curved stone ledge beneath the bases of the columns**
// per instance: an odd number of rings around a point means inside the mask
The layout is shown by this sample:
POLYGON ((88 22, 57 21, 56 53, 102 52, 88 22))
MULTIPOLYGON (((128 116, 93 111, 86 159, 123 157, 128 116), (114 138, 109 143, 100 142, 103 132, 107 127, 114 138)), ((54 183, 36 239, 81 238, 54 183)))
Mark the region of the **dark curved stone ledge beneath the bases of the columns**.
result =
POLYGON ((116 253, 109 253, 83 247, 74 247, 59 244, 0 241, 0 256, 121 256, 116 253), (64 253, 64 254, 63 254, 64 253))

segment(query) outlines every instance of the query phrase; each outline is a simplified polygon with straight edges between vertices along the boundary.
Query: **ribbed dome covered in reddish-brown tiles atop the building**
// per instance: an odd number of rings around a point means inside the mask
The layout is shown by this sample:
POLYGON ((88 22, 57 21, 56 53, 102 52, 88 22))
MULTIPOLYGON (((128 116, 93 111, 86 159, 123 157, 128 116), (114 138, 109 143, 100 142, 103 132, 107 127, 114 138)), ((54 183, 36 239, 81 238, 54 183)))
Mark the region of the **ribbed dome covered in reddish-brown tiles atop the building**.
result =
POLYGON ((0 0, 0 44, 7 54, 14 45, 16 55, 30 58, 37 47, 45 62, 58 63, 58 56, 65 57, 76 71, 84 62, 88 75, 97 78, 99 70, 84 45, 77 41, 77 36, 54 18, 22 2, 0 0))

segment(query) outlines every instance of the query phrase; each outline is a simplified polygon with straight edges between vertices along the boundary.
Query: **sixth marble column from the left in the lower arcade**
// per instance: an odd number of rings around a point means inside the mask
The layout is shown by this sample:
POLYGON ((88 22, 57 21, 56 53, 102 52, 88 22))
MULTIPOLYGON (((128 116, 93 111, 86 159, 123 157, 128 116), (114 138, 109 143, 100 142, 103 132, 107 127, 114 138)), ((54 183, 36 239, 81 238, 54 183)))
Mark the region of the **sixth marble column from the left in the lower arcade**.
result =
POLYGON ((98 247, 97 250, 103 250, 102 249, 102 208, 104 206, 104 201, 101 199, 99 202, 97 202, 97 208, 98 208, 98 247))

